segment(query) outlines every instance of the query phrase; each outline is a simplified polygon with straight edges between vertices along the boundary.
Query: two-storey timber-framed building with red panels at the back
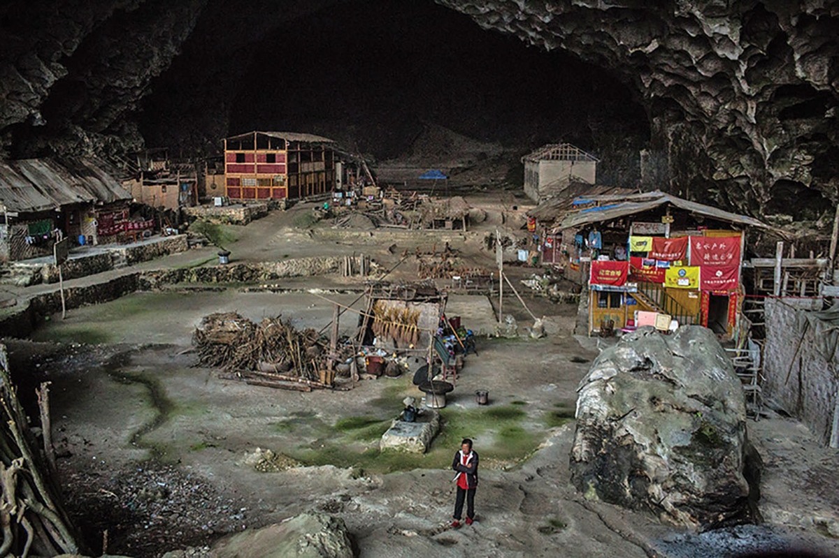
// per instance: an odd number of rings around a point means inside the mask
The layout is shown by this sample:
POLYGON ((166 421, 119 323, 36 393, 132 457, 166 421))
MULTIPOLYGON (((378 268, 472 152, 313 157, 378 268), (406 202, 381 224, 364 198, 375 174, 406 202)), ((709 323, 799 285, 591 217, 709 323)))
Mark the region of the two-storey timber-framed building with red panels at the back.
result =
POLYGON ((335 189, 335 142, 296 132, 248 132, 224 140, 227 197, 297 199, 335 189))

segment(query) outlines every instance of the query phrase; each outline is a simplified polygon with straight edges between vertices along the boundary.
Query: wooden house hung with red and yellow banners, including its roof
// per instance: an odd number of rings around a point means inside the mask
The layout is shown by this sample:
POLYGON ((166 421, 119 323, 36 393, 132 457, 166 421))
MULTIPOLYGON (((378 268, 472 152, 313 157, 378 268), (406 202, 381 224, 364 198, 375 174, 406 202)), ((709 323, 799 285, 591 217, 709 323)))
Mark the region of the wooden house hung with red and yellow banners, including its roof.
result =
POLYGON ((670 194, 588 196, 555 224, 565 276, 589 291, 589 331, 701 324, 737 333, 748 230, 768 227, 670 194))

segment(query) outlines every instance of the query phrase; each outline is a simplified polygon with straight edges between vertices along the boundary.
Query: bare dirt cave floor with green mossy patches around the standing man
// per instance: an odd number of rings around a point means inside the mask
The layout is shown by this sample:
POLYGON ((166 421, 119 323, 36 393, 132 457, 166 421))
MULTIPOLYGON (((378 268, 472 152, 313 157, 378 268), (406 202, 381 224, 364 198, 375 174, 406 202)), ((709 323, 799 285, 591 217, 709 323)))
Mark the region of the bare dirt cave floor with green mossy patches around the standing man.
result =
MULTIPOLYGON (((234 260, 355 251, 388 269, 406 248, 450 241, 467 261, 493 266, 492 255, 481 250, 483 235, 495 226, 489 223, 467 234, 371 235, 329 224, 300 230, 294 223, 306 210, 232 227, 234 260)), ((158 265, 201 265, 202 257, 196 252, 158 265)), ((511 280, 532 271, 509 270, 511 280)), ((400 266, 393 278, 412 274, 415 269, 400 266)), ((378 437, 405 395, 422 395, 409 375, 365 380, 350 391, 272 390, 220 380, 216 370, 195 367, 190 350, 195 324, 213 312, 254 319, 282 314, 296 327, 320 328, 331 319, 332 302, 348 305, 357 298, 358 279, 198 287, 74 309, 66 320, 53 317, 39 328, 37 343, 9 342, 22 391, 38 380, 53 382, 61 480, 93 550, 101 549, 106 529, 109 552, 154 556, 315 508, 347 522, 361 556, 632 557, 685 555, 685 549, 728 556, 769 545, 839 554, 839 540, 828 529, 839 519, 836 451, 818 447, 800 423, 779 416, 749 423, 766 466, 762 508, 768 524, 753 531, 717 533, 716 539, 691 535, 646 514, 581 499, 568 482, 568 453, 576 387, 597 349, 584 349, 573 337, 575 306, 524 294, 531 311, 547 317, 549 335, 481 335, 478 354, 466 359, 442 411, 443 429, 430 452, 394 456, 379 454, 378 437), (489 406, 477 405, 476 390, 489 391, 489 406), (446 530, 454 500, 448 466, 465 436, 482 457, 478 520, 446 530), (282 454, 294 467, 257 472, 243 462, 257 447, 282 454)), ((457 295, 448 313, 489 333, 495 304, 457 295)), ((505 298, 504 306, 520 327, 529 325, 514 298, 505 298)), ((341 318, 343 333, 356 325, 352 311, 341 318)))

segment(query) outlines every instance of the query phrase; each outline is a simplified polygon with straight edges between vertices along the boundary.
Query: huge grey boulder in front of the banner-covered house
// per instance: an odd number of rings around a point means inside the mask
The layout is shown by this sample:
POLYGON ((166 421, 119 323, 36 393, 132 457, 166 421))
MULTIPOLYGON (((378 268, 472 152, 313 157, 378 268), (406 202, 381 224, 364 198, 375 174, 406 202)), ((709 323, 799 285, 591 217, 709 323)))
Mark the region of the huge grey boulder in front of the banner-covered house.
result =
POLYGON ((571 482, 586 498, 698 530, 757 519, 743 387, 709 329, 624 335, 577 391, 571 482))

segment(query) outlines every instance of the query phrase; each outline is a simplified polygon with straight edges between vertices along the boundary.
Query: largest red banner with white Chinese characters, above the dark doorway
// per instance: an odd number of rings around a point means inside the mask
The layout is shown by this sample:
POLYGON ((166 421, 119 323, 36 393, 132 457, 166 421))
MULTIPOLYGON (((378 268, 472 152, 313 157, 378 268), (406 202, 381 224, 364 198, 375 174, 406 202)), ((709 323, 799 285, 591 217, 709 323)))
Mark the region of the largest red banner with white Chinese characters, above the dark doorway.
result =
POLYGON ((690 265, 701 267, 703 291, 736 291, 740 282, 740 237, 691 236, 690 265))

